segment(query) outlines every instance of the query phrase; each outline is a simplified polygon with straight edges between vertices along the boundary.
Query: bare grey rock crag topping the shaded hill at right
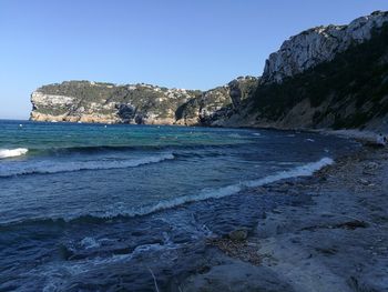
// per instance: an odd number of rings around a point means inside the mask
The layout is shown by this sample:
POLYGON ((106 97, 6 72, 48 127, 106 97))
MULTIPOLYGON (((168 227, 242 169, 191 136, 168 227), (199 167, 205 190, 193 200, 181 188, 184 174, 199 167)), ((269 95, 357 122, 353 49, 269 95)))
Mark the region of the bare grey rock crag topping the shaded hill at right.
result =
POLYGON ((266 61, 263 83, 283 82, 285 78, 331 61, 350 46, 369 40, 375 29, 388 21, 388 12, 376 11, 348 26, 317 27, 286 40, 266 61))

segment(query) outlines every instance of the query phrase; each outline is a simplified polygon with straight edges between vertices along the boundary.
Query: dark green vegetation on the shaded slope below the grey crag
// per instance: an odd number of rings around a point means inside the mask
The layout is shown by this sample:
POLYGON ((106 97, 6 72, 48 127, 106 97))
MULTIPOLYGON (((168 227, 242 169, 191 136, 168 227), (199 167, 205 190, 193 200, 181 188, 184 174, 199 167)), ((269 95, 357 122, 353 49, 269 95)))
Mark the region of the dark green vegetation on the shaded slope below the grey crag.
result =
POLYGON ((328 114, 335 117, 334 128, 359 128, 374 117, 388 112, 388 24, 372 31, 372 38, 354 44, 333 61, 320 63, 283 83, 259 85, 245 105, 251 113, 277 120, 293 107, 308 99, 317 108, 329 102, 323 112, 316 112, 314 124, 328 114), (355 104, 354 113, 345 109, 355 104))

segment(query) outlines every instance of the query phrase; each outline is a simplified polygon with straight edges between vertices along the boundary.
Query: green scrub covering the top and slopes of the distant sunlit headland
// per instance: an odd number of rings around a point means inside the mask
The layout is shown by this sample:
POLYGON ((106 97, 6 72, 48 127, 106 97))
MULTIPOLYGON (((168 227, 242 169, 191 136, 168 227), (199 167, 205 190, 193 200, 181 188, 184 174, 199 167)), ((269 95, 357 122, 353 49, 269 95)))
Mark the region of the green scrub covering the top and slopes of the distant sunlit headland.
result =
POLYGON ((137 115, 141 117, 140 119, 146 118, 150 113, 156 114, 160 119, 174 118, 171 112, 197 94, 196 91, 182 92, 147 84, 114 85, 89 81, 67 81, 41 87, 38 91, 75 98, 75 102, 69 105, 40 105, 39 112, 58 115, 67 112, 74 113, 83 108, 93 113, 115 114, 118 112, 119 117, 126 122, 133 121, 137 115), (130 113, 129 109, 131 109, 130 113))

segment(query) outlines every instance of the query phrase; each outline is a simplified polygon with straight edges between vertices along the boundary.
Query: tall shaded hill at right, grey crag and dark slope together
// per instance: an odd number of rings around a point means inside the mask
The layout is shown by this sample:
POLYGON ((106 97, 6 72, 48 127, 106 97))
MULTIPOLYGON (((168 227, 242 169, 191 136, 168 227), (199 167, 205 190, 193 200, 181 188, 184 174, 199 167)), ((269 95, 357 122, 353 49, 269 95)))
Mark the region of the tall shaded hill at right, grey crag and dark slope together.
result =
POLYGON ((388 13, 379 11, 287 40, 224 125, 388 131, 387 121, 388 13))

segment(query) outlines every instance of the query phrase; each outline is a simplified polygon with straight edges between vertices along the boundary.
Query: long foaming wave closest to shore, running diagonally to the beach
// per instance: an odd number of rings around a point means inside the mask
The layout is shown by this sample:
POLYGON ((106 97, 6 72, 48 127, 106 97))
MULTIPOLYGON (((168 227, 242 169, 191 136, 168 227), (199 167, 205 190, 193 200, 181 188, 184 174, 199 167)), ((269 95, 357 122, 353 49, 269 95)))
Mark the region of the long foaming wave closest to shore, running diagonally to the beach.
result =
MULTIPOLYGON (((78 215, 73 218, 59 218, 59 219, 32 219, 28 220, 29 223, 43 223, 43 224, 62 224, 67 222, 72 222, 72 223, 102 223, 106 220, 112 220, 112 219, 124 219, 124 218, 133 218, 133 217, 139 217, 139 215, 147 215, 151 213, 155 213, 159 211, 167 210, 167 209, 173 209, 181 207, 186 203, 191 202, 198 202, 198 201, 205 201, 208 199, 221 199, 225 198, 228 195, 236 194, 244 189, 247 188, 257 188, 261 185, 265 185, 268 183, 273 183, 276 181, 285 180, 285 179, 292 179, 292 178, 299 178, 299 177, 309 177, 314 174, 316 171, 323 169, 324 167, 330 165, 334 163, 334 160, 330 158, 323 158, 319 161, 316 162, 310 162, 306 163, 300 167, 296 167, 294 169, 287 170, 287 171, 282 171, 277 172, 275 174, 257 179, 257 180, 249 180, 249 181, 244 181, 239 182, 236 184, 231 184, 227 187, 218 188, 218 189, 204 189, 200 193, 194 194, 194 195, 183 195, 178 198, 174 198, 171 200, 166 200, 163 202, 159 202, 157 204, 154 205, 147 205, 143 208, 137 208, 136 210, 127 210, 127 211, 116 211, 116 212, 105 212, 105 213, 99 213, 99 214, 83 214, 83 215, 78 215)), ((10 224, 23 224, 23 221, 19 222, 9 222, 10 224)), ((6 223, 8 225, 9 223, 6 223)), ((27 223, 27 222, 24 222, 27 223)), ((0 228, 4 228, 3 224, 0 224, 0 228)))

